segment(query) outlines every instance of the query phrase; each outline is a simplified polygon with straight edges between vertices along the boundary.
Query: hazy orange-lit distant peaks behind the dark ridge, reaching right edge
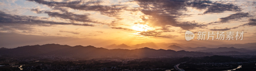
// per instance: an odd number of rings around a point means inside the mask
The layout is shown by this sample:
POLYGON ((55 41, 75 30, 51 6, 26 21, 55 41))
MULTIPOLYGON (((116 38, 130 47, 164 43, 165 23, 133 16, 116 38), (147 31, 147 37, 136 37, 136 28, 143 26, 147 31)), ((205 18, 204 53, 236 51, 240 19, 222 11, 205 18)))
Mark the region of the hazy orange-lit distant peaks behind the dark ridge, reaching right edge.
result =
MULTIPOLYGON (((185 50, 185 51, 198 51, 198 50, 206 50, 210 49, 209 47, 193 47, 193 46, 199 46, 198 44, 195 43, 189 43, 189 44, 182 44, 182 43, 141 43, 141 44, 135 44, 135 45, 126 45, 126 44, 112 44, 105 46, 104 48, 107 49, 138 49, 138 48, 143 48, 143 47, 148 47, 152 49, 165 49, 165 50, 174 50, 174 51, 180 51, 180 50, 185 50), (192 46, 192 47, 190 47, 192 46)), ((222 44, 215 46, 213 48, 219 48, 219 46, 226 46, 226 47, 236 47, 236 48, 244 48, 247 50, 256 50, 256 43, 245 43, 245 44, 222 44)), ((211 46, 212 47, 212 46, 211 46)))

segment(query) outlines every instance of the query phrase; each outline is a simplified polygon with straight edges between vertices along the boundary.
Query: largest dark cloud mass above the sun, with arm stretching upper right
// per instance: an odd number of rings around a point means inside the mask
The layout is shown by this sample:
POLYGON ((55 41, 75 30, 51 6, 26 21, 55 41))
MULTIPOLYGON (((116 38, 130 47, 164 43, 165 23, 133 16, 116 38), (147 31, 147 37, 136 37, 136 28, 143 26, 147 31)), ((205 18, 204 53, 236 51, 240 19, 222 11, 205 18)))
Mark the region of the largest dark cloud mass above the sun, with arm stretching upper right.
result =
MULTIPOLYGON (((234 4, 220 4, 209 0, 136 0, 145 16, 140 18, 145 22, 152 23, 153 26, 164 28, 167 25, 180 27, 182 29, 203 28, 207 24, 195 21, 180 21, 181 18, 189 16, 185 12, 187 7, 199 10, 206 10, 206 13, 222 13, 225 11, 240 11, 234 4), (146 18, 147 15, 149 18, 146 18)), ((181 19, 182 20, 182 19, 181 19)))

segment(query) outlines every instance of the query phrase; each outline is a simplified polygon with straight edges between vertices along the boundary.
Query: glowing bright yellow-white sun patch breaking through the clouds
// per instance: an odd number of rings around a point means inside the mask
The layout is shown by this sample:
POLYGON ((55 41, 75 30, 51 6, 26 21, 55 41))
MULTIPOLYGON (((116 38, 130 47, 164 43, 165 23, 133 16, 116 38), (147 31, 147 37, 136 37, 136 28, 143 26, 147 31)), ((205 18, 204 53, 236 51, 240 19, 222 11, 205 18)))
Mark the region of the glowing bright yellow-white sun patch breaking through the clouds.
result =
POLYGON ((148 25, 145 24, 135 24, 132 26, 132 29, 135 31, 148 31, 148 30, 152 30, 151 27, 149 27, 148 25))

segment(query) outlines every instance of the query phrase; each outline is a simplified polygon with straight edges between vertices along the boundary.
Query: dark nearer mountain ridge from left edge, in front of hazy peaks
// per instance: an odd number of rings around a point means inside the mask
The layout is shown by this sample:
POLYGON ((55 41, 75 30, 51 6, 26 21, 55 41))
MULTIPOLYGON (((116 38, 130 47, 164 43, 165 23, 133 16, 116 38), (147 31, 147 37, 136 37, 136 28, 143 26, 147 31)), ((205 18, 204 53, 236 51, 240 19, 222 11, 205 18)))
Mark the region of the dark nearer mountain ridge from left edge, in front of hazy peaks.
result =
POLYGON ((0 49, 0 56, 82 56, 82 57, 169 57, 169 56, 209 56, 210 53, 195 51, 173 51, 164 49, 151 49, 148 47, 139 49, 106 49, 94 46, 68 46, 60 44, 44 44, 22 46, 12 49, 0 49))

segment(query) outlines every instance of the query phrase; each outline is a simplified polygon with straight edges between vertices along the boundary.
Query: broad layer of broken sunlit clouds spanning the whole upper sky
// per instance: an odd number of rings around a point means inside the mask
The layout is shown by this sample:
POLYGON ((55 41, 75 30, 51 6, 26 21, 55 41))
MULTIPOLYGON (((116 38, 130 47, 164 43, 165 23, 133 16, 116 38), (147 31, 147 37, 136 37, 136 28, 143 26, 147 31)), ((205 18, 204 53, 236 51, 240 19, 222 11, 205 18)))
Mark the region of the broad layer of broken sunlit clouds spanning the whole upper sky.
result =
MULTIPOLYGON (((239 3, 237 3, 236 1, 224 2, 210 0, 128 0, 117 1, 116 3, 108 3, 108 1, 86 0, 27 1, 47 7, 47 9, 40 7, 31 7, 28 10, 37 14, 46 14, 49 17, 14 15, 6 13, 4 11, 0 11, 0 27, 2 27, 2 31, 17 28, 17 25, 38 25, 44 27, 52 25, 76 25, 87 27, 98 27, 106 25, 110 29, 122 29, 132 31, 137 33, 137 35, 146 37, 174 38, 177 37, 177 34, 168 35, 164 33, 180 32, 185 30, 227 31, 243 26, 252 27, 255 26, 256 22, 254 16, 255 13, 248 12, 249 10, 245 10, 246 8, 238 5, 239 3), (227 15, 227 13, 229 14, 227 15), (199 19, 186 19, 195 16, 212 17, 212 15, 218 14, 225 14, 227 16, 222 18, 218 17, 216 18, 216 20, 219 19, 218 21, 211 21, 211 23, 208 23, 208 21, 200 21, 199 19), (54 20, 50 18, 54 18, 54 20), (209 28, 209 26, 214 25, 232 25, 234 21, 243 23, 235 27, 209 28), (138 31, 132 28, 133 26, 136 26, 138 24, 146 25, 149 28, 153 29, 147 31, 138 31)), ((252 6, 254 6, 254 4, 252 3, 252 6)), ((207 18, 213 19, 211 17, 207 18)), ((18 29, 22 30, 35 28, 25 28, 25 26, 23 26, 18 29)), ((25 30, 24 32, 29 31, 25 30)), ((58 30, 58 32, 81 34, 69 30, 58 30)))

